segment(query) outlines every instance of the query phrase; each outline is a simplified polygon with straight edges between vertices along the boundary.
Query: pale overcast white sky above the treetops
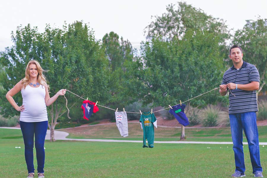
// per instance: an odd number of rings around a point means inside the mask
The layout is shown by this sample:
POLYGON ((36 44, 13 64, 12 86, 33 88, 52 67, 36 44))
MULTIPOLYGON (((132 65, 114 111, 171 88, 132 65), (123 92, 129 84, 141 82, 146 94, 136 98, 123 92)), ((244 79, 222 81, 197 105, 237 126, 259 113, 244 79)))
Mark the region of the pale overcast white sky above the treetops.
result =
MULTIPOLYGON (((0 2, 0 51, 12 46, 11 31, 20 24, 37 26, 44 31, 45 24, 61 28, 76 20, 90 23, 95 37, 102 37, 114 31, 128 39, 133 47, 139 47, 145 40, 144 28, 151 22, 151 16, 166 12, 166 5, 176 3, 171 0, 6 0, 0 2)), ((258 15, 267 18, 266 0, 185 0, 207 15, 226 20, 229 28, 243 28, 245 20, 256 20, 258 15)))

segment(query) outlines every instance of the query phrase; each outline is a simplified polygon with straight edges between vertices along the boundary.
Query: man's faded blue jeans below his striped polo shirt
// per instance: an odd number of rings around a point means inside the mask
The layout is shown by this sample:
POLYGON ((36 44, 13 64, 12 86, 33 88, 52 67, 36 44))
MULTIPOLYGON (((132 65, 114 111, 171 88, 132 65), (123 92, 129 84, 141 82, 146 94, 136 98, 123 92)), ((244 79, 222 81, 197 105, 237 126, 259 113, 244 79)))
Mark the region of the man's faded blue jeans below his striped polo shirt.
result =
POLYGON ((255 112, 244 112, 238 114, 229 114, 231 133, 233 139, 233 151, 235 154, 236 171, 244 173, 245 162, 243 152, 243 130, 247 138, 250 160, 252 164, 253 174, 256 171, 262 172, 260 166, 260 146, 259 135, 256 123, 255 112))

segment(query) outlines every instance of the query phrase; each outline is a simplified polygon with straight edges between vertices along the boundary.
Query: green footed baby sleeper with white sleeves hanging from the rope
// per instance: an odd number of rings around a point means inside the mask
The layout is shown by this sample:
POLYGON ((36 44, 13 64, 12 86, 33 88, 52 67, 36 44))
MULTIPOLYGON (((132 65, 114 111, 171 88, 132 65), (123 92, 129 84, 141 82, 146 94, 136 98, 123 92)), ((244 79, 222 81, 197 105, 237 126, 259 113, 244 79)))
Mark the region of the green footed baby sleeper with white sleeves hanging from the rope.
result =
POLYGON ((157 119, 151 112, 143 112, 140 120, 141 128, 143 129, 143 148, 154 147, 154 126, 157 128, 157 119), (152 124, 153 123, 153 124, 152 124), (146 139, 148 146, 146 145, 146 139))

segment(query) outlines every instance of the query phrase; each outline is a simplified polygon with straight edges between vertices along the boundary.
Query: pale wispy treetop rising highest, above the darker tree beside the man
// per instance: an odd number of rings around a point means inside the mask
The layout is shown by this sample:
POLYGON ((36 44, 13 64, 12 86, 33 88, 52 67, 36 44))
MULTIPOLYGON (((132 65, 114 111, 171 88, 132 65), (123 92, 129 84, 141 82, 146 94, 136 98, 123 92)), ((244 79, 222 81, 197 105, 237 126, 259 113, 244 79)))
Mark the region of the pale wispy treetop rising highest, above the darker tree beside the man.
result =
POLYGON ((148 40, 155 36, 161 36, 164 41, 171 41, 173 38, 182 39, 187 30, 190 31, 210 31, 222 35, 221 43, 224 43, 228 30, 225 22, 219 18, 213 18, 206 15, 201 9, 196 9, 192 5, 185 2, 177 2, 177 4, 169 4, 166 6, 167 12, 161 17, 155 18, 144 30, 148 40))

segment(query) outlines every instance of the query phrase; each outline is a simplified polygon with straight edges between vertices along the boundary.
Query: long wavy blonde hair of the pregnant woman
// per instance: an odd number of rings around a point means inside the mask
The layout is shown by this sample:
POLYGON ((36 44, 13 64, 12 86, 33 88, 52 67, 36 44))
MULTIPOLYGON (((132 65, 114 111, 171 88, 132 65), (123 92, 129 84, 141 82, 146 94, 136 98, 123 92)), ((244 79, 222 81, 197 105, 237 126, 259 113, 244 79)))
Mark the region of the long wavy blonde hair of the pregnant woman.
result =
POLYGON ((25 70, 25 77, 22 79, 22 88, 25 89, 25 87, 27 85, 30 84, 30 70, 29 70, 29 66, 31 64, 35 64, 36 65, 36 68, 37 68, 37 71, 38 71, 38 75, 37 75, 37 80, 38 82, 41 84, 41 85, 44 85, 48 88, 48 90, 50 89, 49 88, 49 85, 47 85, 47 82, 46 82, 46 78, 45 78, 45 75, 43 74, 43 71, 44 72, 47 72, 46 70, 42 69, 42 67, 40 66, 39 62, 35 61, 35 60, 31 60, 28 62, 27 66, 26 66, 26 70, 25 70))

